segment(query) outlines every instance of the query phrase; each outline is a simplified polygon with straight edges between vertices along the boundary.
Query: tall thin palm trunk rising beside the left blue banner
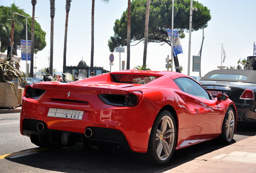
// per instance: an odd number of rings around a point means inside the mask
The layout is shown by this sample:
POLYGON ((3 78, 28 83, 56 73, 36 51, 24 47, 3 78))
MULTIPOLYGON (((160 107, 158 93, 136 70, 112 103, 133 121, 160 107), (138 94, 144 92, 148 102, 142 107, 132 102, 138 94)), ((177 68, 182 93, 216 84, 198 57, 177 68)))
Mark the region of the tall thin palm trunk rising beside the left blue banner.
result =
POLYGON ((31 60, 30 60, 30 73, 29 77, 34 76, 34 23, 35 23, 35 4, 37 3, 37 0, 31 0, 31 4, 33 6, 32 11, 32 23, 31 23, 31 60))

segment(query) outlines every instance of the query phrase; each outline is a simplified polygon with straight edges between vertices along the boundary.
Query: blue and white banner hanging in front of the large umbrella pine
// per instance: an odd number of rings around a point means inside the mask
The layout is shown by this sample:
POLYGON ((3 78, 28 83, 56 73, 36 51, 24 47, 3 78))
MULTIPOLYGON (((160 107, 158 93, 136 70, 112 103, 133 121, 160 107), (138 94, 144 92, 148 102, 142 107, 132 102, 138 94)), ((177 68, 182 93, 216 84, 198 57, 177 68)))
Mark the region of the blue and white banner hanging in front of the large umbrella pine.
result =
MULTIPOLYGON (((168 36, 169 36, 169 40, 171 42, 171 39, 172 39, 172 30, 170 29, 167 29, 167 33, 168 33, 168 36)), ((176 54, 180 54, 180 53, 183 53, 182 51, 182 46, 181 46, 181 43, 180 43, 180 37, 179 37, 179 33, 178 31, 176 30, 173 30, 173 43, 171 42, 171 46, 173 48, 173 54, 176 56, 176 54)))

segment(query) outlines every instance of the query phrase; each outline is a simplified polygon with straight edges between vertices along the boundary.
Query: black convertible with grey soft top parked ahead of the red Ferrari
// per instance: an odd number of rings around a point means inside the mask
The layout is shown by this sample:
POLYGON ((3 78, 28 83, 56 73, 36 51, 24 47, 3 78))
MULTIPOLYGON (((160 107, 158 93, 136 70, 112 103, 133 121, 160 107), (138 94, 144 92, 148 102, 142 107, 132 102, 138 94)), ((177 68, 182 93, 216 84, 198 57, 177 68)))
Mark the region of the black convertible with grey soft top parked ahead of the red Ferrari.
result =
POLYGON ((237 120, 256 121, 256 70, 213 70, 199 83, 213 96, 225 94, 237 108, 237 120))

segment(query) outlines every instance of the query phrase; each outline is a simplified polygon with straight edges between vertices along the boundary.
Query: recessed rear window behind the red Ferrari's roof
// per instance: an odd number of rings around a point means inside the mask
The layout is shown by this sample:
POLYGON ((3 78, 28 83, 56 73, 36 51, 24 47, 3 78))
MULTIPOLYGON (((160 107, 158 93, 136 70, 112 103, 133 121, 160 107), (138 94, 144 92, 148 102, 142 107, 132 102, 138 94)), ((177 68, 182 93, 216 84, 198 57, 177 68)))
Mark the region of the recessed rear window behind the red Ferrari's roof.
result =
POLYGON ((144 74, 111 74, 111 77, 113 78, 114 82, 117 83, 147 84, 160 76, 144 74))

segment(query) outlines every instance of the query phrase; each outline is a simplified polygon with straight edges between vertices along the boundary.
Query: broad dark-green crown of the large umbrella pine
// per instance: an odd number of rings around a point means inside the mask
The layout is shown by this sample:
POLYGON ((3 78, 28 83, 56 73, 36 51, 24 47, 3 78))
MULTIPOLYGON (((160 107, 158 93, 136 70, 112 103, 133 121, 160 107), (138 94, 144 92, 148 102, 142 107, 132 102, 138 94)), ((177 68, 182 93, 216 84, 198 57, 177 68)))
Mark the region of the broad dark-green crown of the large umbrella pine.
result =
MULTIPOLYGON (((145 15, 147 0, 134 0, 131 4, 131 42, 144 39, 145 15)), ((210 10, 197 1, 193 1, 193 7, 198 9, 193 12, 192 30, 207 27, 211 20, 210 10)), ((174 3, 174 29, 178 30, 180 38, 184 38, 184 32, 189 30, 190 0, 175 0, 174 3)), ((170 45, 166 30, 171 28, 172 0, 151 0, 149 12, 149 42, 163 42, 170 45)), ((127 42, 127 10, 123 12, 120 20, 114 25, 114 36, 108 41, 110 52, 118 46, 126 46, 127 42)))

